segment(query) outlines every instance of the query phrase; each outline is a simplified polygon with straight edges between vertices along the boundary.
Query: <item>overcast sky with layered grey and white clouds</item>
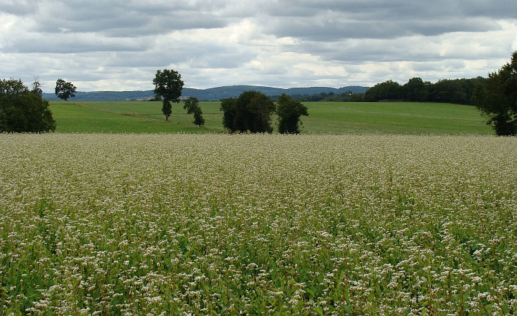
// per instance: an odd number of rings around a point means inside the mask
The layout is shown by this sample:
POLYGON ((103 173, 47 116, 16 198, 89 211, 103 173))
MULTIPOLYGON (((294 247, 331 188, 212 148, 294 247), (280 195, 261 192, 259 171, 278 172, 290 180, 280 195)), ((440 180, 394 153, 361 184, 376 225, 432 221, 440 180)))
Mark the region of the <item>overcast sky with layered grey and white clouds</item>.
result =
POLYGON ((487 76, 517 50, 516 0, 0 0, 0 78, 77 90, 373 86, 487 76))

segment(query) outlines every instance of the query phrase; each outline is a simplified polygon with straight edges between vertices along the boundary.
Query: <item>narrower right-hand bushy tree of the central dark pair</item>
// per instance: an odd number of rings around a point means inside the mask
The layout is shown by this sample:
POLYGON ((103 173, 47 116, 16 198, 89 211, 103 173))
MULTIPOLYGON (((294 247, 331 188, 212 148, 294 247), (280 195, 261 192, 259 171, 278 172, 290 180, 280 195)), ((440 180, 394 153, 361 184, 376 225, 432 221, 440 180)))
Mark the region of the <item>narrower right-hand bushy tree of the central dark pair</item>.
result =
POLYGON ((285 93, 278 97, 276 114, 278 115, 278 132, 281 134, 300 134, 298 126, 298 123, 301 123, 300 117, 309 115, 306 106, 285 93))

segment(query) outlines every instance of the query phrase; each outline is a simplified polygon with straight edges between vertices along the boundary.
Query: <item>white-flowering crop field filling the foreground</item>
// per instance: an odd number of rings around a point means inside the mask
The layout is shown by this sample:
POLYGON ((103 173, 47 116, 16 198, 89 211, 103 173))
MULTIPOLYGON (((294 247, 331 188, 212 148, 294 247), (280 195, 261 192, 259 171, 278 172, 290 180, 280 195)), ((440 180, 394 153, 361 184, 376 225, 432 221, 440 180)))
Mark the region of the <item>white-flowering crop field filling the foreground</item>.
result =
POLYGON ((517 139, 0 135, 0 315, 517 312, 517 139))

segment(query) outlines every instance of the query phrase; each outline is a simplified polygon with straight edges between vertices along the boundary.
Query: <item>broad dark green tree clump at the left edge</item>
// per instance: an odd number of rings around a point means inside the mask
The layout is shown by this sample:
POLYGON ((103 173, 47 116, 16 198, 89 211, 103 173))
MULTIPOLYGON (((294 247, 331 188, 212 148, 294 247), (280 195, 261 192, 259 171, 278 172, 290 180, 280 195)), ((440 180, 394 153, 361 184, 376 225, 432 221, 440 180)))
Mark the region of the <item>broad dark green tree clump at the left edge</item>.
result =
POLYGON ((0 132, 54 132, 56 121, 48 106, 39 90, 29 90, 21 80, 1 80, 0 132))

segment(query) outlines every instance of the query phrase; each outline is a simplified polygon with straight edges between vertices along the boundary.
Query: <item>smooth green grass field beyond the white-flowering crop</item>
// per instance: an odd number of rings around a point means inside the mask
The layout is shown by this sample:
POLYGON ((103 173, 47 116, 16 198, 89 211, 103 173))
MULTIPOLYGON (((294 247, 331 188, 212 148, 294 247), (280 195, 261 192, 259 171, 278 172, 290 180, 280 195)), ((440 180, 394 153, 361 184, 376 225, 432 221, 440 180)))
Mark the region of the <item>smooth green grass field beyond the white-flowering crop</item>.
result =
MULTIPOLYGON (((144 101, 51 102, 57 132, 222 132, 219 102, 201 102, 204 128, 192 124, 183 103, 172 106, 170 122, 161 103, 144 101)), ((493 135, 476 108, 447 103, 307 102, 303 134, 493 135)), ((276 119, 276 118, 275 118, 276 119)))

